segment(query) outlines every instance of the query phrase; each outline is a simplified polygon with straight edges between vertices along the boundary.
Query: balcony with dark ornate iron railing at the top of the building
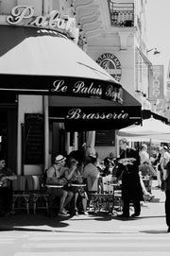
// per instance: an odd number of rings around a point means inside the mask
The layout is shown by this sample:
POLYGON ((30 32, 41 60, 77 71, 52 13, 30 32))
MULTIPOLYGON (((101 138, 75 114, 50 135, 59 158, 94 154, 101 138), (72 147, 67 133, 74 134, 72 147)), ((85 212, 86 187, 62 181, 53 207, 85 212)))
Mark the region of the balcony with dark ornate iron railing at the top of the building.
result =
POLYGON ((110 9, 110 26, 134 26, 134 4, 114 3, 108 0, 110 9))

